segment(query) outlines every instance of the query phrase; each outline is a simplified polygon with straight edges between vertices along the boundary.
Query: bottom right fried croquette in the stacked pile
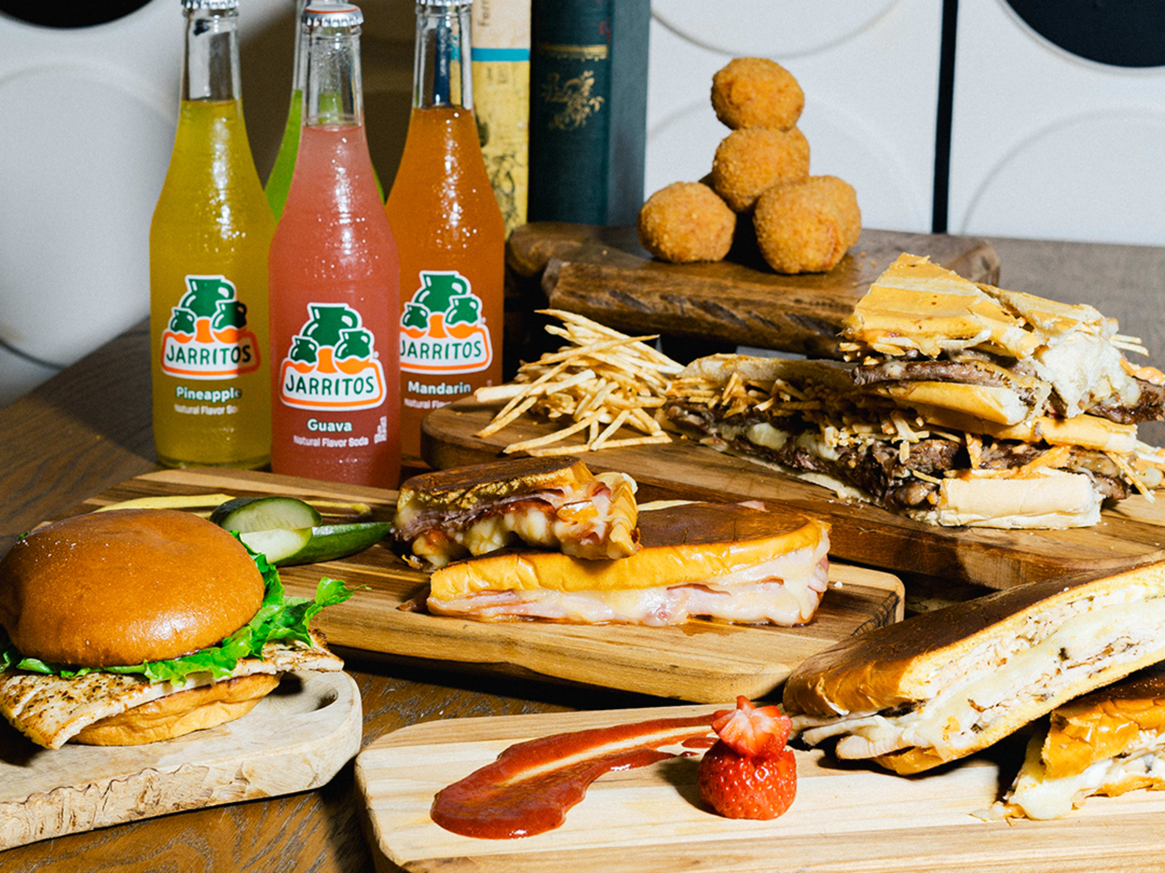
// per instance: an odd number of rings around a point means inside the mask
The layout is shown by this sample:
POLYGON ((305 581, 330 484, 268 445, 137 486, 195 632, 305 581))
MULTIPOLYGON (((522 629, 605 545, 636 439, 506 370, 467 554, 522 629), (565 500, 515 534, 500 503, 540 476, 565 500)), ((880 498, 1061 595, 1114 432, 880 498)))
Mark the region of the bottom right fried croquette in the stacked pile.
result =
POLYGON ((820 184, 777 185, 757 200, 756 243, 777 272, 825 272, 849 249, 841 207, 820 184))

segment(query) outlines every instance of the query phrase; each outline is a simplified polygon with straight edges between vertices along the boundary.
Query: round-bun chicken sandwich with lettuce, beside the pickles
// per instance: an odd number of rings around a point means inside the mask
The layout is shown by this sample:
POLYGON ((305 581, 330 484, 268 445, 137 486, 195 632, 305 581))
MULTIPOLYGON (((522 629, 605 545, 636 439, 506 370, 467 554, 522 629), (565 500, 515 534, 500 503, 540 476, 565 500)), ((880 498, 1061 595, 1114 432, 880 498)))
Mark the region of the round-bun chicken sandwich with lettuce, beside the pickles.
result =
POLYGON ((344 662, 232 534, 176 510, 45 525, 0 560, 0 714, 48 748, 137 745, 240 718, 289 670, 344 662))

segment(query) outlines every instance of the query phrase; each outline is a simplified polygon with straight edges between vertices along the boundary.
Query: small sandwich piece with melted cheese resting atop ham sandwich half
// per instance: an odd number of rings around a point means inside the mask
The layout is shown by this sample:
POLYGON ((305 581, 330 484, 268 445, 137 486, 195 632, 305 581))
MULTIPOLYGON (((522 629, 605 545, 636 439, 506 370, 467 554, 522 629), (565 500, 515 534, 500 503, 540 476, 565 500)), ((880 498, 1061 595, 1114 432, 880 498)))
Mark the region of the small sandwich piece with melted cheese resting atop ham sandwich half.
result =
POLYGON ((423 473, 401 485, 395 537, 417 566, 524 544, 576 558, 638 548, 635 480, 577 457, 520 457, 423 473))

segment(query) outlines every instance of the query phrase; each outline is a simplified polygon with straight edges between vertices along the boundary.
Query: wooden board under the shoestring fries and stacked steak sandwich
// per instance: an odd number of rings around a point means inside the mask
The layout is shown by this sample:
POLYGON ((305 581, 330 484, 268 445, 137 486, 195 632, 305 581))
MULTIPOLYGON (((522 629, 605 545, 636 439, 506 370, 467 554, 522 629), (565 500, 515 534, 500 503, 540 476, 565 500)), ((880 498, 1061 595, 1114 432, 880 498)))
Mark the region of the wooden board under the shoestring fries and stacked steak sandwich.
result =
MULTIPOLYGON (((474 434, 497 411, 474 400, 429 413, 422 455, 437 468, 496 460, 510 442, 550 433, 523 417, 501 432, 474 434)), ((1134 496, 1106 509, 1094 527, 1065 531, 1000 531, 938 527, 786 476, 691 440, 581 453, 595 473, 628 473, 652 496, 683 494, 706 501, 784 503, 833 525, 829 553, 843 561, 987 588, 1011 588, 1071 573, 1108 573, 1165 559, 1165 501, 1134 496)))

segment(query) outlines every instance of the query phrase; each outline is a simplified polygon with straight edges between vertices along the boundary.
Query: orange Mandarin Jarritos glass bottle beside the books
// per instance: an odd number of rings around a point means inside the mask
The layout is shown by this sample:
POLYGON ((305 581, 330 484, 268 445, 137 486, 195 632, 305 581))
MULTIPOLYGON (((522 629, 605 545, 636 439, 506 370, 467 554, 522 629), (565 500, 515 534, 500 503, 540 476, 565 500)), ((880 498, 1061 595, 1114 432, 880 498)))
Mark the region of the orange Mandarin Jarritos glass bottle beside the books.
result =
POLYGON ((401 249, 401 452, 430 410, 502 378, 506 227, 473 115, 468 0, 417 3, 412 112, 384 210, 401 249))

